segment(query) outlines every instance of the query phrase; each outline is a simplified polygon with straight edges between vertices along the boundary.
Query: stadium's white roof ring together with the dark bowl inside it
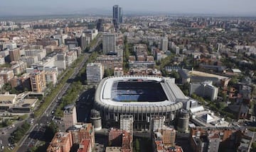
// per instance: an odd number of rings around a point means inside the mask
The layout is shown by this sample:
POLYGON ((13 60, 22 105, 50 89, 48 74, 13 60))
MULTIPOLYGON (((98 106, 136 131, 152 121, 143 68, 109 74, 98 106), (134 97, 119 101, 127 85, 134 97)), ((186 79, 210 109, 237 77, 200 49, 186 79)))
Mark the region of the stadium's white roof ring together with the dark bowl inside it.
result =
POLYGON ((160 76, 111 76, 103 79, 102 83, 100 100, 107 105, 160 106, 187 99, 175 83, 160 76), (152 87, 159 88, 159 93, 155 93, 152 87), (129 102, 124 102, 126 100, 129 102))

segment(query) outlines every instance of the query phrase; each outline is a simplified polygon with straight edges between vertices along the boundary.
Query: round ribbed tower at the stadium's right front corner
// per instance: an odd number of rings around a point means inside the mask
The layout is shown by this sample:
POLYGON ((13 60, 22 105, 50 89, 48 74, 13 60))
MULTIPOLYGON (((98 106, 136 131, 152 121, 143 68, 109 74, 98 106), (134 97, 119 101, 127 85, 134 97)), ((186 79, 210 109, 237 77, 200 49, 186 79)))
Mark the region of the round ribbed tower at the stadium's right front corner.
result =
POLYGON ((178 114, 178 131, 187 132, 189 123, 189 113, 187 110, 181 110, 178 114))

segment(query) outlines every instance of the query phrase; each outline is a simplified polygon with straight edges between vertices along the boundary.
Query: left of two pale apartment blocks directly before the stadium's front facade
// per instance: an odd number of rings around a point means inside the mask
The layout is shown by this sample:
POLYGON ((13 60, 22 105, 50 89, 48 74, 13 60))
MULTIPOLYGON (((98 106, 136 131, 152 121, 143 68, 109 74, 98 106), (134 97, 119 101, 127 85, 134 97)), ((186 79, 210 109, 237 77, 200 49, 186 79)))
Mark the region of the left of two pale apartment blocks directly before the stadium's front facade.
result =
POLYGON ((132 115, 120 115, 120 129, 132 133, 133 131, 132 115))

